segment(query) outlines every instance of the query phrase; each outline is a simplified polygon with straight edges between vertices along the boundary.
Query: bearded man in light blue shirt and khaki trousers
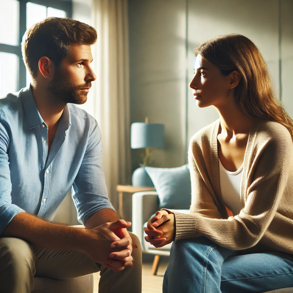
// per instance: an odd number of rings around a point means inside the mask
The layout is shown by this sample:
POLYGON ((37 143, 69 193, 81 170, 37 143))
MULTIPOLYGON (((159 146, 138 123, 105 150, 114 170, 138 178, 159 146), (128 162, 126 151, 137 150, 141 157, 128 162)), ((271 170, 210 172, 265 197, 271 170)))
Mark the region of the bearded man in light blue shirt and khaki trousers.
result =
POLYGON ((53 17, 23 39, 33 82, 0 100, 0 292, 31 292, 34 275, 99 270, 99 292, 141 292, 139 240, 108 199, 98 124, 71 104, 85 103, 96 79, 96 39, 91 26, 53 17), (46 221, 71 186, 85 229, 46 221))

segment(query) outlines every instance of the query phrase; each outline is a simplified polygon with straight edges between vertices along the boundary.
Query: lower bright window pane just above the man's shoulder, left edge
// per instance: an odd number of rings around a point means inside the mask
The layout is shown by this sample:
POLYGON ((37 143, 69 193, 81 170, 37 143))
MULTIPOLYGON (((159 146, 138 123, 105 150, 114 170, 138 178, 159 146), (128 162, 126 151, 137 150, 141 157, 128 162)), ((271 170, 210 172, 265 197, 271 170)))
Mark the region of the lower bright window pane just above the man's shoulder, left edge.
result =
POLYGON ((18 56, 0 52, 0 97, 18 90, 18 56))

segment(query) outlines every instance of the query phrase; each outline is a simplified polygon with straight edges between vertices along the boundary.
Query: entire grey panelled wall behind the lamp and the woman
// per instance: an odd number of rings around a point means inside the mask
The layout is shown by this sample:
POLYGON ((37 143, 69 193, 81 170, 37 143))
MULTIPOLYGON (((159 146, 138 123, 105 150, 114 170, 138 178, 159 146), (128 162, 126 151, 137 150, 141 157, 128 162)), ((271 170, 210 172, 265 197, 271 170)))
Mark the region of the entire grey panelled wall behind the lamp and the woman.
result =
MULTIPOLYGON (((131 122, 143 121, 149 115, 151 122, 165 124, 167 144, 156 151, 157 165, 183 164, 192 135, 219 117, 213 106, 197 108, 187 86, 194 72, 193 49, 215 35, 241 33, 255 42, 268 65, 277 96, 282 93, 282 103, 293 116, 292 1, 128 3, 131 122)), ((133 168, 139 159, 139 152, 132 151, 133 168)))

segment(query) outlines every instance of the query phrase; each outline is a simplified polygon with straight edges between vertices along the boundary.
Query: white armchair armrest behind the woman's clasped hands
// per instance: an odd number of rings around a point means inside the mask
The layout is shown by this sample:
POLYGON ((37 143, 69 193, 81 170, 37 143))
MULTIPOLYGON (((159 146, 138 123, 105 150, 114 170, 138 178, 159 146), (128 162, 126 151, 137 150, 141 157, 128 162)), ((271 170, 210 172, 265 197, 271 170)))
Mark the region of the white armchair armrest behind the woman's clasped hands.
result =
POLYGON ((152 214, 159 210, 159 197, 156 191, 141 191, 132 195, 132 233, 143 246, 143 225, 152 214))

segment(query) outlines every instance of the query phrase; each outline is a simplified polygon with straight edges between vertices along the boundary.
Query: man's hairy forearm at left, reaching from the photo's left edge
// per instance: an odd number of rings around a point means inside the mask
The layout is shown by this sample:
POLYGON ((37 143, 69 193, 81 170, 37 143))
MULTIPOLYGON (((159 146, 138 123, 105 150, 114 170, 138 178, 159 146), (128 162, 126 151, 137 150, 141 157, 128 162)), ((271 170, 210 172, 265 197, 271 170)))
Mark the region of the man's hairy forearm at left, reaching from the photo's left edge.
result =
POLYGON ((20 238, 36 247, 79 251, 87 237, 85 229, 48 223, 27 213, 17 214, 1 236, 20 238))

